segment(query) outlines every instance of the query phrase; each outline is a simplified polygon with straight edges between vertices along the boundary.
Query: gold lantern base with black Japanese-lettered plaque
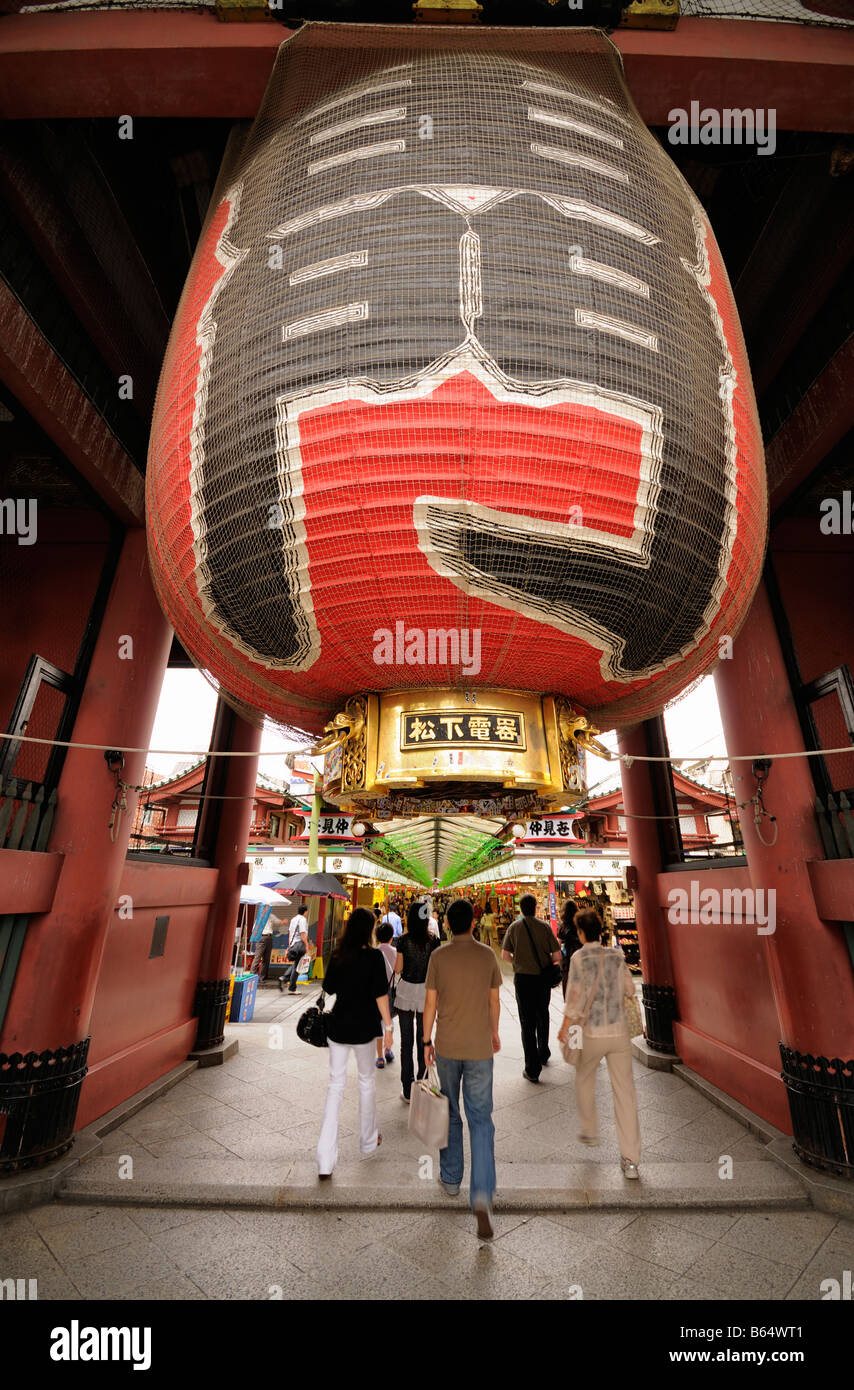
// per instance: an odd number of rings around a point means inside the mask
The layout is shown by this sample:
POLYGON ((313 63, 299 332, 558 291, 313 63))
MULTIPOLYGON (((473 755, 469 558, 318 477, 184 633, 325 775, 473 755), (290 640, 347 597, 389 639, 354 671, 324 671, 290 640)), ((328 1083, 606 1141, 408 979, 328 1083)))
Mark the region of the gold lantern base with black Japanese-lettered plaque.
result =
POLYGON ((409 689, 360 694, 325 727, 323 794, 385 820, 572 808, 598 733, 562 695, 409 689))

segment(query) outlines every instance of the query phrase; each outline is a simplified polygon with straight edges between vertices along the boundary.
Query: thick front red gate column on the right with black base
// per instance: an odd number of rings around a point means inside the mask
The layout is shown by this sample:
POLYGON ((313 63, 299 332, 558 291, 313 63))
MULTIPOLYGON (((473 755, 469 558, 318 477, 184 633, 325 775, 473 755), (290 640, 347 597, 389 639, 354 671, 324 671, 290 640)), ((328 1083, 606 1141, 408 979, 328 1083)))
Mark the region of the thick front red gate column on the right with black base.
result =
MULTIPOLYGON (((765 585, 752 602, 734 642, 732 660, 720 662, 715 687, 730 758, 741 753, 794 752, 804 738, 765 585)), ((809 872, 823 859, 815 823, 815 788, 805 758, 772 762, 765 805, 776 816, 754 824, 750 798, 757 781, 748 762, 733 763, 736 801, 754 894, 773 910, 764 934, 768 969, 782 1029, 783 1081, 796 1150, 807 1162, 854 1177, 854 969, 841 926, 819 917, 809 872), (848 1076, 826 1065, 847 1061, 848 1076), (847 1093, 839 1101, 839 1093, 847 1093), (835 1098, 836 1097, 836 1098, 835 1098)))

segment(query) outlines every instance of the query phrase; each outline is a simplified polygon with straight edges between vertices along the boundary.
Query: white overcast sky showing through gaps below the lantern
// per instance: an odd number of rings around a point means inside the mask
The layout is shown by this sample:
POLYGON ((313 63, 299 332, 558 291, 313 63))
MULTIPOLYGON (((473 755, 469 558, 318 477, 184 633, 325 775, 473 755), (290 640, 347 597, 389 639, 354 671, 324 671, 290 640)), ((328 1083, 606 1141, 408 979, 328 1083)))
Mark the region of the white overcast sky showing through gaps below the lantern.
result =
MULTIPOLYGON (((167 749, 166 753, 149 753, 146 764, 159 777, 167 777, 181 762, 192 762, 193 753, 203 755, 210 742, 217 694, 199 671, 171 670, 166 673, 154 733, 153 749, 167 749)), ((665 713, 665 726, 670 752, 675 758, 708 758, 723 753, 723 731, 715 696, 715 681, 711 676, 697 685, 683 699, 676 701, 665 713)), ((602 742, 616 748, 616 734, 605 734, 602 742)), ((261 758, 260 770, 268 777, 287 781, 282 755, 298 745, 288 742, 275 728, 266 728, 261 738, 261 752, 274 755, 261 758)), ((588 759, 590 785, 606 776, 606 766, 595 758, 588 759)))

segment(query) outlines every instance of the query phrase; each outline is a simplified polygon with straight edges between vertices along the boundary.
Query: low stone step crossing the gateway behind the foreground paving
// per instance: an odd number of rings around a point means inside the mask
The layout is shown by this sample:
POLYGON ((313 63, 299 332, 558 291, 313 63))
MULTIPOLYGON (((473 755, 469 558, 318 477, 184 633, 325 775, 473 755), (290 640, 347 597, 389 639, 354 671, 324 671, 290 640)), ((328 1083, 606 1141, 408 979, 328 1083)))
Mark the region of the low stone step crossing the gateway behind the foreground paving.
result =
MULTIPOLYGON (((319 1183, 309 1162, 246 1163, 223 1159, 136 1158, 134 1176, 120 1179, 114 1155, 96 1156, 76 1169, 58 1193, 64 1202, 134 1207, 256 1207, 281 1211, 381 1208, 455 1209, 466 1188, 448 1197, 430 1176, 420 1179, 410 1159, 374 1156, 339 1163, 319 1183)), ((612 1163, 498 1163, 497 1211, 587 1211, 619 1208, 805 1209, 809 1200, 794 1176, 769 1162, 740 1162, 736 1176, 720 1179, 716 1163, 641 1165, 638 1182, 612 1163)))

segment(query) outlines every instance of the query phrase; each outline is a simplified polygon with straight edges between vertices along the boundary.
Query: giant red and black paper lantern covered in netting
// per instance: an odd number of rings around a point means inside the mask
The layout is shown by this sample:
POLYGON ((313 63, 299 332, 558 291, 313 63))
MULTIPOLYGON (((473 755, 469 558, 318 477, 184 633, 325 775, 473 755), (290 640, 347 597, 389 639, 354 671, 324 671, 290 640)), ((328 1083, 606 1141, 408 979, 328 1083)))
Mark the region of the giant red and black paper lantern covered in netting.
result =
POLYGON ((526 33, 309 25, 227 158, 163 367, 150 557, 192 657, 284 724, 420 685, 631 723, 758 581, 705 214, 609 40, 526 33), (448 630, 480 634, 477 671, 419 662, 409 635, 448 630))

